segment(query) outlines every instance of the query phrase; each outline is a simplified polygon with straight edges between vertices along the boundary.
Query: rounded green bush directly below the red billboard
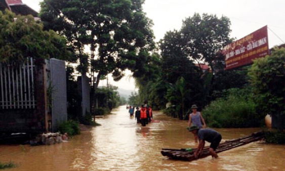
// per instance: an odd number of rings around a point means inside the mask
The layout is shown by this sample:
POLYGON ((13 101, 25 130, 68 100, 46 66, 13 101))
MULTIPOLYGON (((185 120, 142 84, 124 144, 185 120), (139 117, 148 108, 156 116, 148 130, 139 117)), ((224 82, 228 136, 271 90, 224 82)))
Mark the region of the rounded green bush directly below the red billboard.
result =
POLYGON ((263 115, 257 114, 250 89, 229 89, 223 97, 211 102, 202 110, 210 127, 256 127, 263 115))

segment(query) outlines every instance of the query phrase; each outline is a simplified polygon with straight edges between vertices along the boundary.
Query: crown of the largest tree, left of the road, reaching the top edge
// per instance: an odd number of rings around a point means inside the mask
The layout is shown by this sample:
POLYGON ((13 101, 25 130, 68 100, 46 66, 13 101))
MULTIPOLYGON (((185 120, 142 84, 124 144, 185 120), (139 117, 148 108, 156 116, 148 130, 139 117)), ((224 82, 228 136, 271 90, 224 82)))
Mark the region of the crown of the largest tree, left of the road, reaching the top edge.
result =
POLYGON ((114 80, 124 70, 139 73, 152 49, 152 22, 142 11, 143 0, 46 0, 40 18, 45 29, 64 35, 79 60, 80 72, 112 73, 114 80), (89 50, 85 49, 86 47, 89 50), (86 53, 89 52, 89 53, 86 53))

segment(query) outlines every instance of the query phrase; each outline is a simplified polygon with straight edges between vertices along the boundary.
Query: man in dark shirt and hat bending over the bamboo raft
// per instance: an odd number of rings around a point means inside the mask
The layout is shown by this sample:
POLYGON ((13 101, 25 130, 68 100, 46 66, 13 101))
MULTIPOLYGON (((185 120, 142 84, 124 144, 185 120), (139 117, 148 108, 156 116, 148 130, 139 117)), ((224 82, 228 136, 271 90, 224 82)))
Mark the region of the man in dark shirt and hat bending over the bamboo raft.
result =
POLYGON ((203 150, 205 146, 205 141, 211 143, 209 152, 212 155, 212 157, 215 158, 219 157, 218 154, 215 152, 215 150, 217 149, 222 140, 222 136, 220 133, 212 129, 199 129, 199 127, 197 127, 194 124, 190 126, 189 131, 199 138, 198 148, 194 152, 195 158, 197 158, 201 153, 201 151, 203 150))

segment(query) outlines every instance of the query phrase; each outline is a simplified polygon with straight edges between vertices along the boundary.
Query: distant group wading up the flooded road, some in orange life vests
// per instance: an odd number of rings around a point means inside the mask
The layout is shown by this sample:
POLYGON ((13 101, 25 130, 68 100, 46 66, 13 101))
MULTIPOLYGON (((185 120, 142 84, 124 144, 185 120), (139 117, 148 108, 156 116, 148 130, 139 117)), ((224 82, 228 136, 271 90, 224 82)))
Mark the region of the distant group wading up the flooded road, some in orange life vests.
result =
POLYGON ((134 116, 135 113, 135 120, 137 120, 137 123, 141 123, 142 126, 146 126, 146 124, 150 123, 153 119, 151 106, 147 106, 146 104, 142 105, 141 108, 137 106, 136 111, 134 106, 127 106, 127 109, 129 109, 131 117, 134 116))

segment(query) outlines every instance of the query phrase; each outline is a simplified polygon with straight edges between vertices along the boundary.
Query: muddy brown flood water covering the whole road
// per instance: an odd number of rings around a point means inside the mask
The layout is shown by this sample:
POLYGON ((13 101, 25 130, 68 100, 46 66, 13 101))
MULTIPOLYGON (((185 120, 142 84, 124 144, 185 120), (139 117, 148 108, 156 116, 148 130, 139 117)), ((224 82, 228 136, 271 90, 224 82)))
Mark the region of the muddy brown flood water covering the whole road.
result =
MULTIPOLYGON (((130 118, 125 106, 97 119, 101 126, 51 146, 0 146, 0 162, 12 161, 7 170, 285 170, 285 146, 251 143, 196 161, 170 160, 161 148, 196 147, 187 121, 154 112, 158 123, 146 127, 130 118)), ((223 140, 259 129, 216 129, 223 140)), ((208 144, 206 144, 208 145, 208 144)))

